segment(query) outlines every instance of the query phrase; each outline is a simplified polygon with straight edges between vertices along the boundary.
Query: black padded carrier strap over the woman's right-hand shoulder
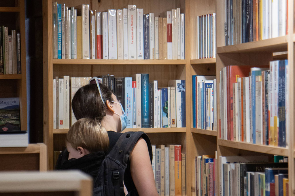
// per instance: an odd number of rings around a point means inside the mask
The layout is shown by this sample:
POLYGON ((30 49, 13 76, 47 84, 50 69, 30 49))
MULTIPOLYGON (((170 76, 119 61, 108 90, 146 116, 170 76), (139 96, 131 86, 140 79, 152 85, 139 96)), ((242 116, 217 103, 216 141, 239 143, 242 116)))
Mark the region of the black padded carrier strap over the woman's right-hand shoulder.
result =
MULTIPOLYGON (((140 139, 143 138, 145 139, 146 143, 148 144, 148 148, 150 148, 150 139, 148 136, 142 132, 126 132, 123 133, 120 138, 118 139, 116 145, 113 147, 113 149, 109 152, 107 155, 110 159, 113 161, 117 162, 120 166, 122 166, 124 169, 127 167, 127 162, 129 155, 135 146, 136 142, 140 139)), ((148 149, 150 158, 152 161, 152 149, 148 149)))

